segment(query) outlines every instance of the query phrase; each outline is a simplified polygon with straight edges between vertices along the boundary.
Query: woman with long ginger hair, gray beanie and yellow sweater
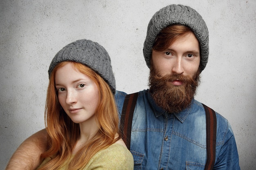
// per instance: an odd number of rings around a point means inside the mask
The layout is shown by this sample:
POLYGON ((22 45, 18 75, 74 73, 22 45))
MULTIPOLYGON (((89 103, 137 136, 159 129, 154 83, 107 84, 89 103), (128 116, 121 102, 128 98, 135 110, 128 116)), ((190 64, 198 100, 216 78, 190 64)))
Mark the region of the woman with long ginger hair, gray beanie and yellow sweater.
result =
POLYGON ((45 124, 49 148, 37 170, 133 170, 118 135, 115 78, 98 43, 78 40, 49 66, 45 124))

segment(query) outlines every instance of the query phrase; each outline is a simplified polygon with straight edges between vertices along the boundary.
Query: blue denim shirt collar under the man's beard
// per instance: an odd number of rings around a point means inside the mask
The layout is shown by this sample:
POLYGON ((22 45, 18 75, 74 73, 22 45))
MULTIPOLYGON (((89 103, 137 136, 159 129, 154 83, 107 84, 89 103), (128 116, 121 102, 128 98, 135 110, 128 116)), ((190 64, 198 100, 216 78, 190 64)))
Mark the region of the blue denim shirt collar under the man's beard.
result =
MULTIPOLYGON (((164 110, 163 108, 157 106, 157 104, 155 103, 154 99, 151 97, 151 94, 148 90, 148 100, 149 100, 149 103, 151 105, 151 107, 153 108, 154 110, 154 113, 155 113, 155 117, 159 117, 161 115, 163 115, 164 113, 166 114, 170 114, 168 113, 166 110, 164 110)), ((189 107, 185 108, 184 110, 182 110, 180 113, 173 113, 173 115, 175 115, 175 117, 177 117, 177 119, 180 121, 180 122, 184 122, 186 117, 189 115, 189 113, 191 112, 192 110, 192 107, 193 107, 193 103, 194 103, 194 99, 192 100, 191 104, 189 105, 189 107)))

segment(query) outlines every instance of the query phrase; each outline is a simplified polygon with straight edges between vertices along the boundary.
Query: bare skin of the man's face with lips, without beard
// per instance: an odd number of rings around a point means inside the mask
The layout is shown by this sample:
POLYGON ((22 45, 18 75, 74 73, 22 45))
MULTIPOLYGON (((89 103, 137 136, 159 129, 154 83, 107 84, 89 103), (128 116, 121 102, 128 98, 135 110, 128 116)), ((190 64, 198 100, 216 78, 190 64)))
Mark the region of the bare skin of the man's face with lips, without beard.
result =
MULTIPOLYGON (((199 42, 193 33, 188 33, 175 40, 165 51, 152 51, 152 62, 160 76, 184 75, 193 78, 200 64, 199 42)), ((183 83, 177 79, 171 84, 181 86, 183 83)))

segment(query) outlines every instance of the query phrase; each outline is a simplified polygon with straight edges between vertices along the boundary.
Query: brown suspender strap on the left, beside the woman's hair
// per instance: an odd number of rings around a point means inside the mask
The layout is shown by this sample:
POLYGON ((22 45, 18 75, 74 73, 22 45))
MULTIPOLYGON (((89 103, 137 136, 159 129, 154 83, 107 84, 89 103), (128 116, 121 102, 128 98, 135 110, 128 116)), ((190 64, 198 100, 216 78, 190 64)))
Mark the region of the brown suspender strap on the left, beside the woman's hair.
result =
POLYGON ((126 95, 120 119, 120 132, 127 148, 130 150, 133 111, 137 102, 138 93, 126 95))

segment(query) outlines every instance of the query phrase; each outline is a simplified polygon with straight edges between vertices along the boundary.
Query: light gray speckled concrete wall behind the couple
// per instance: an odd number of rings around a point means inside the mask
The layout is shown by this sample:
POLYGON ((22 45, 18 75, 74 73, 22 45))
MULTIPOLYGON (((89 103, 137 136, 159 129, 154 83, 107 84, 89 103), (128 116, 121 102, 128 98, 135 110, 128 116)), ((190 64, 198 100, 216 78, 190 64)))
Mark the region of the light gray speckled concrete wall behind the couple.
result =
POLYGON ((22 141, 44 128, 47 70, 66 44, 82 38, 99 42, 112 58, 117 90, 147 88, 142 49, 148 21, 170 3, 193 7, 207 23, 209 62, 196 99, 229 120, 241 169, 254 170, 255 0, 2 0, 0 169, 22 141))

